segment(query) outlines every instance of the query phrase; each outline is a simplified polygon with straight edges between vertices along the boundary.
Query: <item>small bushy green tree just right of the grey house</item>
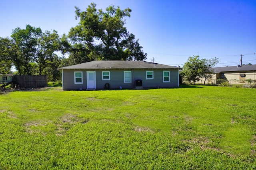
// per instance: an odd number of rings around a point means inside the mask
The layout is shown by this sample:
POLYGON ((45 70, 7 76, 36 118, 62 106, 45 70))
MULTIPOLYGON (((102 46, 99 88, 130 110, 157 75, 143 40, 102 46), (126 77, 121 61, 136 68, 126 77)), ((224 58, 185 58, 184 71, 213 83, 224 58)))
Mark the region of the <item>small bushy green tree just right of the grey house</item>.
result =
POLYGON ((212 67, 218 63, 218 58, 214 59, 199 59, 199 56, 189 57, 188 61, 184 64, 183 70, 181 72, 184 80, 188 82, 194 82, 200 80, 200 78, 205 78, 204 82, 212 74, 212 67))

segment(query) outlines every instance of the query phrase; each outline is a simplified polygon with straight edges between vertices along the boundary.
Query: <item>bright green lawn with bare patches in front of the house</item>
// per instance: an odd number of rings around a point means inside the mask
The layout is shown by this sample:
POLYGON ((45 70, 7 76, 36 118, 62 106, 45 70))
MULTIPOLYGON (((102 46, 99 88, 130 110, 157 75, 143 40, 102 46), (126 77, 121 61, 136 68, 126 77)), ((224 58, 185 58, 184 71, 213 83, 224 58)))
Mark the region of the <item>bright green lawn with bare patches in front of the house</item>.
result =
POLYGON ((0 169, 255 169, 255 90, 0 94, 0 169))

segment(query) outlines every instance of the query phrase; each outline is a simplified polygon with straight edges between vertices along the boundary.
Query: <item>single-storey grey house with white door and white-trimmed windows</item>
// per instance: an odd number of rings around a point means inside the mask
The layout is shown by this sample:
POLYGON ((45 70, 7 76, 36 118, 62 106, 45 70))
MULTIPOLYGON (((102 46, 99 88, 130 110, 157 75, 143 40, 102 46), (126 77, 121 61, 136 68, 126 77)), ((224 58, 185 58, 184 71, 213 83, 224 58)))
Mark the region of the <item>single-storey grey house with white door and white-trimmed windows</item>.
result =
POLYGON ((63 90, 179 87, 179 68, 145 61, 91 61, 59 68, 63 90))

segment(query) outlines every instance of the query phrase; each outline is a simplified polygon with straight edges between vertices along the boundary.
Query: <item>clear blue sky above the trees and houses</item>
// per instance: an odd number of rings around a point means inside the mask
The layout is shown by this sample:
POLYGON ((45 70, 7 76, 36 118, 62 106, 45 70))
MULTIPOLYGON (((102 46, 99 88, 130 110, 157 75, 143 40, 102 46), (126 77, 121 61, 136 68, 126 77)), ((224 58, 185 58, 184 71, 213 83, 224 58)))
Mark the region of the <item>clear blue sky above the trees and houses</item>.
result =
POLYGON ((27 24, 61 36, 78 24, 75 6, 131 8, 126 27, 155 63, 182 66, 188 57, 219 58, 217 66, 256 64, 256 0, 2 0, 0 37, 27 24))

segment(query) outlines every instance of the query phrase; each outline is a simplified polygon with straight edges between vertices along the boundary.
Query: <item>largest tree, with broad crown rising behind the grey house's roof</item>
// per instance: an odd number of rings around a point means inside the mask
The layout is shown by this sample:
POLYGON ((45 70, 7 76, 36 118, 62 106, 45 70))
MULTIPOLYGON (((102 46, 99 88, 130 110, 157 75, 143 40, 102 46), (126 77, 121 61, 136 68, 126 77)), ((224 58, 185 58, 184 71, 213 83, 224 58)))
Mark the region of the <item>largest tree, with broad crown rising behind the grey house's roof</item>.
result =
MULTIPOLYGON (((130 17, 130 8, 121 10, 113 5, 103 10, 97 10, 91 3, 86 11, 76 8, 76 19, 80 22, 70 29, 68 36, 68 51, 70 61, 84 63, 96 59, 102 60, 137 60, 143 61, 147 54, 135 40, 135 36, 124 27, 124 17, 130 17)), ((66 40, 67 40, 66 39, 66 40)), ((67 42, 67 41, 66 41, 67 42)))

